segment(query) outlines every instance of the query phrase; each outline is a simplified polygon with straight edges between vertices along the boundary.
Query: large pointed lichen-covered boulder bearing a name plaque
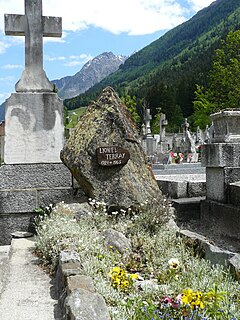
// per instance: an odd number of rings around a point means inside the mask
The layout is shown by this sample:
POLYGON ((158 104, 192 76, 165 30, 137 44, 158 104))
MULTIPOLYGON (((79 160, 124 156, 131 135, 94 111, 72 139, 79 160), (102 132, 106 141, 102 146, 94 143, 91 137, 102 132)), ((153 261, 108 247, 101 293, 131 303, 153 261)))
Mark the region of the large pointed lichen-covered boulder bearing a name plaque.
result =
POLYGON ((131 115, 110 87, 80 118, 61 159, 89 197, 110 207, 162 200, 131 115))

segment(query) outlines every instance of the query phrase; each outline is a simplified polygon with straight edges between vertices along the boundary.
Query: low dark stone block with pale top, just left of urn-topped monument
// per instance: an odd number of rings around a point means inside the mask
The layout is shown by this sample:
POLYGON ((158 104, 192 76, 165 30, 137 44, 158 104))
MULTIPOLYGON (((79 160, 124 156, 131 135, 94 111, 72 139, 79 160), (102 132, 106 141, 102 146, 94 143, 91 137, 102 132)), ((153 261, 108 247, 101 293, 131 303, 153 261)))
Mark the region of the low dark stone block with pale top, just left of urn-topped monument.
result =
POLYGON ((200 219, 201 201, 204 199, 205 197, 172 199, 177 220, 181 222, 200 219))

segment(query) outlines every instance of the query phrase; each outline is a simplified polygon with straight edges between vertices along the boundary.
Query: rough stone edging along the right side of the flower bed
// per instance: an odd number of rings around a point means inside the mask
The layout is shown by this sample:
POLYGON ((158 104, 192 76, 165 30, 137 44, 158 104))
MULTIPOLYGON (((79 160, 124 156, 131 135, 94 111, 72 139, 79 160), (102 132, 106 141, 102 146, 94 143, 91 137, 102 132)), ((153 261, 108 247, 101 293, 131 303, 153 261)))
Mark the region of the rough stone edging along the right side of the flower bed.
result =
POLYGON ((177 235, 183 238, 186 245, 193 248, 200 257, 209 260, 213 265, 223 265, 237 280, 240 279, 240 254, 223 250, 196 232, 179 230, 177 235))

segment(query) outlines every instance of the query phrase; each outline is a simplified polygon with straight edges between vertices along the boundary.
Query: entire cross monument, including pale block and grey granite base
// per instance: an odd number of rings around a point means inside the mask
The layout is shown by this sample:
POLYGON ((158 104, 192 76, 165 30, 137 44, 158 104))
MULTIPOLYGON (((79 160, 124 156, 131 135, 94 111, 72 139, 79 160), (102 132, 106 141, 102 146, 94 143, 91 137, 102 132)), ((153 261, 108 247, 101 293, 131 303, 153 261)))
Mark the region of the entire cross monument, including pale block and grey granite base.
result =
POLYGON ((25 0, 25 15, 5 15, 6 35, 25 35, 25 70, 5 103, 0 244, 9 244, 14 231, 30 231, 35 208, 73 197, 60 160, 63 103, 43 70, 43 37, 60 37, 61 22, 42 16, 42 0, 25 0))

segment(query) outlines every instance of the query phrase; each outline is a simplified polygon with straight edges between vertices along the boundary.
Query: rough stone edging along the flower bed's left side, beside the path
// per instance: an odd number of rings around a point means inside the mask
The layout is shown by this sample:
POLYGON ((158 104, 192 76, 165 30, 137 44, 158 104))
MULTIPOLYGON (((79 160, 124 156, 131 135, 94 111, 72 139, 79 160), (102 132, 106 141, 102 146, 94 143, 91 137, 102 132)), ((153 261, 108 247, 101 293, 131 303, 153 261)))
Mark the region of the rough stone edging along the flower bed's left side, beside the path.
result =
POLYGON ((63 320, 110 320, 105 300, 92 278, 83 274, 77 252, 60 253, 56 286, 63 320))

